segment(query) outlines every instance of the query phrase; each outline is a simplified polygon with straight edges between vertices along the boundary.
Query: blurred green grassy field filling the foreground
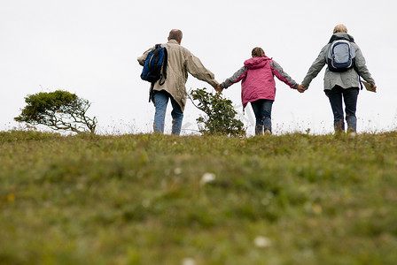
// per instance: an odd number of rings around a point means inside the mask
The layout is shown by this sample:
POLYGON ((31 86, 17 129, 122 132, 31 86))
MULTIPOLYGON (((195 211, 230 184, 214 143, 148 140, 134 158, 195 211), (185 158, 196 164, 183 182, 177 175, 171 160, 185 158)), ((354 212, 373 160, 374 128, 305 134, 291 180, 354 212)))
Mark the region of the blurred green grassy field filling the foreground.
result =
POLYGON ((396 249, 397 132, 0 132, 0 264, 392 265, 396 249))

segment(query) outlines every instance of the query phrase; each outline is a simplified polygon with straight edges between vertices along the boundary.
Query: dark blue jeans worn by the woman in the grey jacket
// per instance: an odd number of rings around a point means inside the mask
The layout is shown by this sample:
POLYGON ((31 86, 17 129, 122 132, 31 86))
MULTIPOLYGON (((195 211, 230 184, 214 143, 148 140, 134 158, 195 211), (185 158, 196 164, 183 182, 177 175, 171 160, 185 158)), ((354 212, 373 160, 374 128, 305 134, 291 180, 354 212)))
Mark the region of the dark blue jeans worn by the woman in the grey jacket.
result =
POLYGON ((355 110, 357 108, 358 93, 358 87, 345 89, 335 86, 331 90, 325 90, 325 94, 330 99, 333 112, 333 125, 336 133, 345 132, 342 98, 345 102, 347 132, 355 132, 357 127, 357 117, 355 117, 355 110))

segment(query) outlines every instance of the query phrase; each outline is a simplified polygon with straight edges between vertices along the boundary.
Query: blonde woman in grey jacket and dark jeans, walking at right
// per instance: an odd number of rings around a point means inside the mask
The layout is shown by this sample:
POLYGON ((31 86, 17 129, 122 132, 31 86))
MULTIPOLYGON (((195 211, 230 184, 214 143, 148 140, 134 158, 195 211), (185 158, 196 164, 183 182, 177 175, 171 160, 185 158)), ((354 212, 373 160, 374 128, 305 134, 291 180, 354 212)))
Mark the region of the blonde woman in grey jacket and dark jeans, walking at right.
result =
MULTIPOLYGON (((343 53, 341 53, 341 55, 343 55, 343 53)), ((355 110, 360 87, 359 76, 370 83, 370 87, 373 91, 376 91, 377 86, 375 85, 375 80, 372 79, 370 72, 365 65, 365 59, 362 56, 361 49, 357 44, 354 43, 353 36, 347 34, 347 28, 344 25, 339 24, 334 28, 330 42, 323 47, 323 49, 320 51, 320 54, 315 59, 315 62, 310 66, 305 79, 302 81, 302 85, 305 89, 308 88, 310 82, 315 79, 325 64, 328 64, 328 67, 325 69, 324 92, 325 95, 328 96, 331 103, 335 132, 345 132, 342 105, 343 98, 343 101, 345 102, 347 132, 355 133, 357 126, 355 110), (346 69, 334 69, 334 64, 331 63, 332 59, 338 57, 335 56, 335 54, 331 54, 331 47, 335 47, 336 42, 344 42, 346 47, 352 48, 351 51, 350 49, 346 49, 345 57, 339 56, 341 59, 345 58, 346 61, 348 61, 349 57, 354 58, 354 60, 352 59, 352 65, 346 69), (350 52, 347 53, 347 51, 350 52)))

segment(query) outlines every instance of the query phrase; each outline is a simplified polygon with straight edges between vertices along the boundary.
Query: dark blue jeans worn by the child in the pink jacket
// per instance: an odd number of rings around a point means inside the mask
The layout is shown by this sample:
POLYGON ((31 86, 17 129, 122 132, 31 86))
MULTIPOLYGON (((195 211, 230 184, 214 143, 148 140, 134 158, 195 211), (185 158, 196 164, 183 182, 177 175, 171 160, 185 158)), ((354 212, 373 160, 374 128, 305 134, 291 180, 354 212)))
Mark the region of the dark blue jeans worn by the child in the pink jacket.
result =
POLYGON ((253 113, 255 114, 255 135, 261 135, 263 130, 269 130, 271 133, 271 107, 273 101, 260 99, 251 102, 253 113))

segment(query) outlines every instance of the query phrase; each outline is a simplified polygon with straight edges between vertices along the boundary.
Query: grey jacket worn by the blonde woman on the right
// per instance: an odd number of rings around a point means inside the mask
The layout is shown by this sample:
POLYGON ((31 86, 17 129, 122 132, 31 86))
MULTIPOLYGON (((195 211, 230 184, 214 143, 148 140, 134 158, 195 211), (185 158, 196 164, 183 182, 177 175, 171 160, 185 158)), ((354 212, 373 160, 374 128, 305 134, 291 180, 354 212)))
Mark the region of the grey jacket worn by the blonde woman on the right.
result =
MULTIPOLYGON (((334 37, 344 37, 352 42, 352 46, 355 49, 355 70, 350 69, 346 72, 331 72, 327 67, 325 69, 324 76, 324 90, 331 90, 335 86, 343 88, 360 87, 358 79, 359 74, 362 79, 366 80, 372 86, 374 86, 375 80, 372 79, 372 77, 370 76, 370 71, 368 71, 367 66, 365 65, 365 58, 362 56, 362 50, 358 47, 357 44, 354 43, 354 38, 346 33, 336 33, 332 35, 332 38, 334 37)), ((302 81, 302 85, 303 87, 305 87, 305 89, 309 87, 310 82, 315 79, 317 74, 323 69, 323 66, 327 63, 328 49, 330 48, 330 46, 331 43, 325 45, 320 51, 318 57, 315 59, 315 62, 310 66, 305 79, 303 79, 302 81)))

